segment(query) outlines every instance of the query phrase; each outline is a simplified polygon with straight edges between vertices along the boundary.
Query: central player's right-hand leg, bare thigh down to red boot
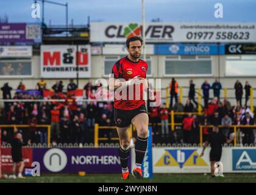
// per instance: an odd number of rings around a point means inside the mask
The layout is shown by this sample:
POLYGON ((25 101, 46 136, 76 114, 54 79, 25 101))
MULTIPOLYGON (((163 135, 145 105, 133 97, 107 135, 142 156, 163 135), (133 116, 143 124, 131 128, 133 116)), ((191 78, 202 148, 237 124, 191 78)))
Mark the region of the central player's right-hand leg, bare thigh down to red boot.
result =
POLYGON ((135 143, 135 169, 133 169, 133 174, 138 179, 141 179, 143 177, 141 171, 141 163, 143 161, 148 146, 148 114, 139 113, 138 115, 133 117, 132 124, 137 130, 137 141, 135 143))

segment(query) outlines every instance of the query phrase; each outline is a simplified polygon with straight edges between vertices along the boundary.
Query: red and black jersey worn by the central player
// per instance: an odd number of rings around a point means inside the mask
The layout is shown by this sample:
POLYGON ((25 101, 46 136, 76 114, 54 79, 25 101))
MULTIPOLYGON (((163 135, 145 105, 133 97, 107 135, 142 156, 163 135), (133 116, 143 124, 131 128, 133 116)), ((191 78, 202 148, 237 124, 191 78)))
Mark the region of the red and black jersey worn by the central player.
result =
MULTIPOLYGON (((143 60, 139 60, 138 62, 132 62, 128 59, 128 57, 124 57, 123 59, 118 60, 118 62, 113 65, 112 74, 115 79, 124 79, 129 80, 133 79, 133 77, 141 77, 146 78, 148 70, 148 64, 143 60)), ((129 92, 127 87, 127 100, 121 99, 117 100, 115 98, 114 107, 116 109, 121 110, 133 110, 140 107, 146 102, 143 100, 143 86, 140 86, 140 99, 135 99, 135 86, 133 87, 133 100, 129 100, 129 92)))

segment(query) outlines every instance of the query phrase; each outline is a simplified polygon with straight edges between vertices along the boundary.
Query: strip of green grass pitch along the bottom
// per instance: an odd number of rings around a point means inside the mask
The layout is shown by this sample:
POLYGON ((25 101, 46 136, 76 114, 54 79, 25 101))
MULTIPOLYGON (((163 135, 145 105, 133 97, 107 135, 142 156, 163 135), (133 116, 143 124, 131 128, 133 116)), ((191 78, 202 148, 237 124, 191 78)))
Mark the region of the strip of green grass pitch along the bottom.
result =
POLYGON ((256 182, 256 174, 225 174, 225 177, 212 178, 210 174, 154 174, 154 179, 137 180, 130 175, 128 181, 121 180, 120 174, 42 174, 40 177, 27 176, 26 179, 0 179, 0 183, 227 183, 256 182))

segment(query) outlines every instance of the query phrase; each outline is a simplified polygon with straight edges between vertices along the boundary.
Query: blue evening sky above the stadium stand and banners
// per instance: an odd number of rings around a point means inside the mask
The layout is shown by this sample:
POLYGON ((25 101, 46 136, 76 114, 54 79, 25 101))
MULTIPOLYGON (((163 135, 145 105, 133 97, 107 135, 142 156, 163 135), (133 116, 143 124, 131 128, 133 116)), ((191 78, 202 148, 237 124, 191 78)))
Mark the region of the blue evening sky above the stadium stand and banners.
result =
MULTIPOLYGON (((32 0, 1 1, 0 17, 7 15, 9 23, 33 23, 40 21, 31 17, 32 0)), ((51 0, 68 2, 69 23, 87 24, 91 21, 141 21, 141 0, 51 0)), ((144 0, 146 21, 215 21, 256 22, 255 0, 144 0), (224 18, 215 18, 215 4, 220 2, 224 18)), ((38 1, 41 5, 41 2, 38 1)), ((41 7, 42 8, 42 7, 41 7)), ((42 14, 42 12, 41 12, 42 14)), ((45 3, 46 24, 65 24, 65 7, 45 3)))

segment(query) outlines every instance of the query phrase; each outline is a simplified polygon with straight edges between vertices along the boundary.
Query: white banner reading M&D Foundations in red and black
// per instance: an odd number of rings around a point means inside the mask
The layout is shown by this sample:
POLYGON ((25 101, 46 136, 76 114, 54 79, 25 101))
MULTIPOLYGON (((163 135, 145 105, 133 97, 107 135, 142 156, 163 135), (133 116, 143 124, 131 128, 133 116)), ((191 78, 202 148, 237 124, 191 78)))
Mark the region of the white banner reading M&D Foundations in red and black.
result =
POLYGON ((91 77, 90 45, 41 45, 41 77, 91 77))

